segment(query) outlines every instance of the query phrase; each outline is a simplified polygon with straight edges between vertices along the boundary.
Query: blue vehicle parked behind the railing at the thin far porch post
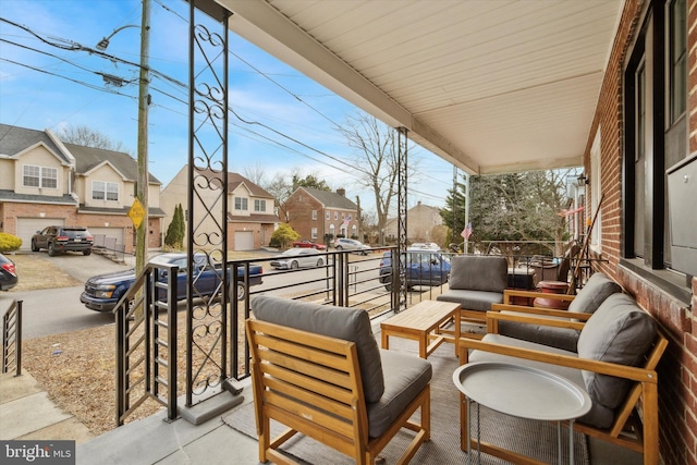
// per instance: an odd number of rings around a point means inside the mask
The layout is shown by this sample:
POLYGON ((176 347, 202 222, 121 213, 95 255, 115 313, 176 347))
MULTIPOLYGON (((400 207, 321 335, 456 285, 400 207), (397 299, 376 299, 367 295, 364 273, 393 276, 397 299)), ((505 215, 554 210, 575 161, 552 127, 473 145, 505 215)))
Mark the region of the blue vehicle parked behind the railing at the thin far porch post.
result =
MULTIPOLYGON (((450 256, 436 250, 406 250, 403 253, 406 267, 406 289, 415 285, 441 285, 450 277, 450 256)), ((392 291, 392 252, 380 259, 380 282, 392 291)))

